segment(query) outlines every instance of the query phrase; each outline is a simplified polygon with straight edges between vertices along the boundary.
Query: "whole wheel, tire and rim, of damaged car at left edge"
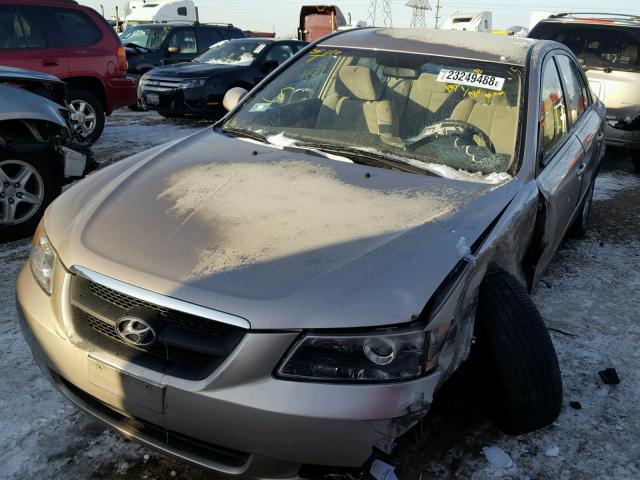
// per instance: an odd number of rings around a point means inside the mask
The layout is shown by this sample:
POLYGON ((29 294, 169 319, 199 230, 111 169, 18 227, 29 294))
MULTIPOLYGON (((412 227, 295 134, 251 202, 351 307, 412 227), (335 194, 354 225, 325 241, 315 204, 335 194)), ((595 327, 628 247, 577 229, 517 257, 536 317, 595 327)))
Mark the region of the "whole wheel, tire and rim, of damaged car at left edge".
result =
POLYGON ((0 240, 33 235, 49 204, 62 191, 57 153, 0 151, 0 240))

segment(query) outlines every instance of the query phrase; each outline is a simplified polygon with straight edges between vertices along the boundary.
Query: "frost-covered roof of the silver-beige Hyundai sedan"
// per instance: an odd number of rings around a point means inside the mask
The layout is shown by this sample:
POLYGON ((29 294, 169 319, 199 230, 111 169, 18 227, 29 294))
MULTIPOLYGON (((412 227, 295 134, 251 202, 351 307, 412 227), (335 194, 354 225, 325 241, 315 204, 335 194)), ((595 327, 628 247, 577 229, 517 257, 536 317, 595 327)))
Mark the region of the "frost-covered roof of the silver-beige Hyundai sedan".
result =
POLYGON ((319 45, 525 65, 529 51, 538 42, 530 38, 457 30, 361 28, 327 37, 319 45))

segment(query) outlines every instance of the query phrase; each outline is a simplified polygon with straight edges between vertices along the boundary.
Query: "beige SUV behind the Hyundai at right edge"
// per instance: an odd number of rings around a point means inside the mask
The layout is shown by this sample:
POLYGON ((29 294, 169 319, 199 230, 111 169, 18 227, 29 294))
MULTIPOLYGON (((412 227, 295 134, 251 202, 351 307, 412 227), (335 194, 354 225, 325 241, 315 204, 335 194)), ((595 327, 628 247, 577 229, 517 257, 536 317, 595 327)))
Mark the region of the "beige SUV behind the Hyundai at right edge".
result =
POLYGON ((531 38, 567 45, 607 107, 606 140, 629 149, 640 173, 640 17, 561 13, 542 20, 531 38))

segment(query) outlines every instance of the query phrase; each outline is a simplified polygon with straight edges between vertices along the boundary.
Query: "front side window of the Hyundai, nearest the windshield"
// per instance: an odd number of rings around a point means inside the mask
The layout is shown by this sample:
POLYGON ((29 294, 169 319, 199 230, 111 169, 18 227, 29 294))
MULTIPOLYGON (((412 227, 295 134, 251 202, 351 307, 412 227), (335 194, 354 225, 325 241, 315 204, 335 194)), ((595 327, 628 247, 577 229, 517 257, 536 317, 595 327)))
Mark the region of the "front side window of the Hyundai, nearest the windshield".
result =
MULTIPOLYGON (((554 61, 546 62, 542 73, 539 122, 544 158, 554 150, 568 131, 564 95, 554 61)), ((546 165, 548 161, 543 160, 543 163, 546 165)))

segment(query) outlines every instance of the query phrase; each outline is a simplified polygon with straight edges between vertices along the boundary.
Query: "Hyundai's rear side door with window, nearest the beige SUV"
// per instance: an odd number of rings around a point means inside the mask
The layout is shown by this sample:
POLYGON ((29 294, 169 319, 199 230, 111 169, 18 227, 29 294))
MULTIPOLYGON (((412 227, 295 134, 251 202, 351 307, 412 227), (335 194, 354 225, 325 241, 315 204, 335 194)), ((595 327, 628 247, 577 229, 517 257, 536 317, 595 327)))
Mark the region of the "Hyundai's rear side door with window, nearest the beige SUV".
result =
POLYGON ((587 81, 576 62, 568 55, 557 55, 556 62, 566 93, 569 121, 585 151, 579 165, 581 176, 580 200, 595 180, 604 148, 604 123, 597 104, 591 100, 587 81))

